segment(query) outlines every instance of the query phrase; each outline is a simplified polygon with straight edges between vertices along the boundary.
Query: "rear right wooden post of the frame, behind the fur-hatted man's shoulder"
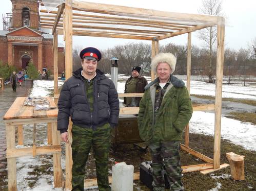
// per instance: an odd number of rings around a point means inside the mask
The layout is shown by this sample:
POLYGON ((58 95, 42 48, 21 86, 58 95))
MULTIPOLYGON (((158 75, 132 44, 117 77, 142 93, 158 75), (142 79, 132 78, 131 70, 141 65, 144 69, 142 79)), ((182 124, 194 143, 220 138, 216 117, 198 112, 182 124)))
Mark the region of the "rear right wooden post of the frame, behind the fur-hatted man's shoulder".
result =
MULTIPOLYGON (((190 75, 191 75, 191 32, 188 33, 187 47, 187 89, 190 92, 190 75)), ((185 146, 189 147, 189 124, 185 127, 185 146)))

